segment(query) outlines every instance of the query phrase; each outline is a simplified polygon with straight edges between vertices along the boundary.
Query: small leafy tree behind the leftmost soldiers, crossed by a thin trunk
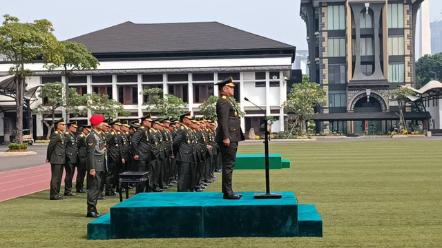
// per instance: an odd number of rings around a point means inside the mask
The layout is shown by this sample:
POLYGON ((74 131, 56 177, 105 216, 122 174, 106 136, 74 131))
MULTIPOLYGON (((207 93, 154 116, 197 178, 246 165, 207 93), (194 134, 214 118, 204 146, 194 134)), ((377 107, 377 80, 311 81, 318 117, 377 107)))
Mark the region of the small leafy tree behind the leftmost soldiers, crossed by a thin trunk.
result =
MULTIPOLYGON (((43 123, 48 127, 48 134, 46 139, 50 138, 51 130, 54 128, 55 111, 58 107, 66 106, 66 94, 64 94, 64 85, 61 82, 46 83, 38 90, 39 97, 44 99, 45 103, 37 105, 35 110, 32 110, 34 114, 41 114, 43 116, 43 123), (51 122, 46 118, 51 118, 51 122)), ((74 88, 69 89, 69 98, 71 99, 71 110, 80 113, 77 107, 86 105, 86 97, 77 93, 74 88)))

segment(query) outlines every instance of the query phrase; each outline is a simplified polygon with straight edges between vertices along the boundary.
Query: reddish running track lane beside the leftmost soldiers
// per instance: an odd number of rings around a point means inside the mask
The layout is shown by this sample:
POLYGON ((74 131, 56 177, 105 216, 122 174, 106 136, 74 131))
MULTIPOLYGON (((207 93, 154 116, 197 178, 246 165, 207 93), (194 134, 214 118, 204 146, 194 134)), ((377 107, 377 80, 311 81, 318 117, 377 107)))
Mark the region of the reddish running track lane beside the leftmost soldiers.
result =
MULTIPOLYGON (((61 185, 64 185, 66 173, 63 170, 61 185)), ((73 177, 73 182, 77 178, 77 170, 73 177)), ((35 192, 49 189, 50 187, 50 164, 31 167, 26 169, 15 169, 9 172, 0 172, 0 202, 26 196, 35 192)), ((64 187, 60 193, 63 194, 64 187)), ((49 195, 48 195, 49 199, 49 195)))

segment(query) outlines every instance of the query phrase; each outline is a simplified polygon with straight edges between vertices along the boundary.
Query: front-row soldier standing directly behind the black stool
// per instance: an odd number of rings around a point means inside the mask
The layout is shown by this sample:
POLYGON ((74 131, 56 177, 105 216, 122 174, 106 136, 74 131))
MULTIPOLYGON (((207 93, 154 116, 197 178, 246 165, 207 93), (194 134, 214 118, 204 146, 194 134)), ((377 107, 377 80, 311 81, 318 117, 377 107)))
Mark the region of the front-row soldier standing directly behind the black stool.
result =
MULTIPOLYGON (((137 163, 138 171, 149 172, 146 192, 152 192, 153 189, 153 167, 151 165, 151 130, 152 119, 150 114, 141 118, 141 126, 132 137, 133 158, 137 163)), ((136 193, 144 192, 144 189, 137 185, 136 193)))

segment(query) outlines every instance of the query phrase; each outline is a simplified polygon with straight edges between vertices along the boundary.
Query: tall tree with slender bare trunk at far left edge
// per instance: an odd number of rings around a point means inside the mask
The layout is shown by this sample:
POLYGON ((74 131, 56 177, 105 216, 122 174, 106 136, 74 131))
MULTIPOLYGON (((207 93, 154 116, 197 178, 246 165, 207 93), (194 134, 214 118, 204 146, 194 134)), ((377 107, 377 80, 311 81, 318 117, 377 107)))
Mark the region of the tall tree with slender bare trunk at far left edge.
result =
POLYGON ((19 23, 17 17, 3 15, 5 21, 0 26, 0 54, 12 62, 10 74, 15 75, 17 109, 17 136, 16 142, 22 142, 23 134, 23 99, 26 89, 26 76, 32 72, 25 68, 26 63, 33 63, 37 56, 47 54, 57 47, 52 31, 52 23, 46 19, 35 20, 33 23, 19 23))

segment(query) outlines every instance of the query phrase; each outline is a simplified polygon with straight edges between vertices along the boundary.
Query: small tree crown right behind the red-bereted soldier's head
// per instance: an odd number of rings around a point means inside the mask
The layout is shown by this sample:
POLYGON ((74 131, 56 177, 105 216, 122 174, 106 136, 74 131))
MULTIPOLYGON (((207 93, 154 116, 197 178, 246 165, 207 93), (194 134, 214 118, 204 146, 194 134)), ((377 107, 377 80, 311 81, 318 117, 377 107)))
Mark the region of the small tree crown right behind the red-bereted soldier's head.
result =
POLYGON ((107 95, 86 94, 86 109, 90 110, 91 114, 101 114, 106 119, 115 119, 118 116, 129 116, 131 112, 124 110, 124 107, 118 101, 109 99, 107 95))

